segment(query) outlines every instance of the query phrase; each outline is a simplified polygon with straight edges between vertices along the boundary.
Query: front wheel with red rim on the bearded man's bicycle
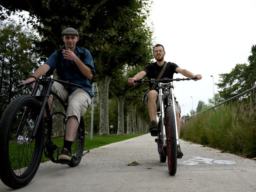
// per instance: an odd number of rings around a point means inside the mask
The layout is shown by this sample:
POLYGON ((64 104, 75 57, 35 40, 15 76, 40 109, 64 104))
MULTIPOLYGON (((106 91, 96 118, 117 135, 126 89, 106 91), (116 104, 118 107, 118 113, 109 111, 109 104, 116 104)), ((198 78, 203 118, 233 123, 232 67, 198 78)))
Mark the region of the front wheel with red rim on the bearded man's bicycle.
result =
POLYGON ((175 116, 171 106, 166 109, 166 145, 169 174, 175 175, 177 169, 177 141, 175 116))

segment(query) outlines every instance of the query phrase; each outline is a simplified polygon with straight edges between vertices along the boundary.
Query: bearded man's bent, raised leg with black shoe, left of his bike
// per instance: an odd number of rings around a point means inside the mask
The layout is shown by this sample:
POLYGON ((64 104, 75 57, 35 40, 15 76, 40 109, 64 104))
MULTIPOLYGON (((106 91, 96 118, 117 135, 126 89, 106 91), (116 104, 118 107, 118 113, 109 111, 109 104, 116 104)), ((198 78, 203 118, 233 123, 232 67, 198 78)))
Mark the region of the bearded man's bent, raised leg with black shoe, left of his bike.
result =
POLYGON ((157 92, 156 90, 151 90, 148 92, 148 113, 150 116, 151 124, 148 127, 151 136, 157 136, 158 135, 158 125, 156 123, 156 101, 157 101, 157 92))

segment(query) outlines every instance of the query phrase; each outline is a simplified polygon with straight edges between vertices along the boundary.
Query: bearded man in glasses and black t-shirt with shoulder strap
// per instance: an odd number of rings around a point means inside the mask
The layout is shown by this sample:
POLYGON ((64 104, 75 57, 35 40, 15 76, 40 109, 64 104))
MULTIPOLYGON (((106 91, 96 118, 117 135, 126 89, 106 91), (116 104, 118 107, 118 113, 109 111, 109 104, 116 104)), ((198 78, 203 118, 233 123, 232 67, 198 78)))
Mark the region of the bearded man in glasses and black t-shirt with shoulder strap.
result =
MULTIPOLYGON (((164 46, 162 46, 161 44, 157 44, 156 46, 154 46, 153 54, 154 54, 154 58, 156 59, 156 62, 148 63, 145 66, 144 70, 142 70, 141 72, 136 74, 133 78, 128 78, 128 83, 135 85, 136 83, 134 83, 134 80, 141 79, 144 76, 147 76, 148 78, 154 78, 154 79, 157 78, 158 74, 160 74, 160 72, 163 69, 164 64, 166 63, 164 61, 164 56, 165 56, 164 46)), ((186 77, 196 77, 197 80, 200 80, 202 78, 201 75, 194 75, 192 72, 190 72, 186 69, 180 68, 175 63, 168 62, 166 64, 167 64, 166 69, 161 78, 172 79, 174 73, 180 73, 186 77)), ((153 84, 149 84, 150 88, 152 87, 152 85, 153 84)), ((158 135, 158 125, 156 123, 156 112, 157 112, 157 109, 159 106, 159 104, 158 104, 159 101, 158 101, 157 90, 158 90, 158 86, 156 86, 156 88, 154 90, 150 90, 148 92, 148 96, 145 99, 145 104, 148 106, 148 112, 149 112, 149 116, 150 116, 150 120, 151 120, 151 124, 149 126, 149 131, 150 131, 151 136, 158 135)), ((180 105, 178 104, 178 102, 176 100, 175 100, 175 109, 176 109, 176 118, 177 118, 176 121, 177 121, 177 127, 178 127, 178 136, 180 136, 180 113, 181 113, 181 110, 180 110, 180 105)), ((182 156, 183 156, 183 153, 180 150, 180 146, 178 146, 177 158, 182 158, 182 156)))

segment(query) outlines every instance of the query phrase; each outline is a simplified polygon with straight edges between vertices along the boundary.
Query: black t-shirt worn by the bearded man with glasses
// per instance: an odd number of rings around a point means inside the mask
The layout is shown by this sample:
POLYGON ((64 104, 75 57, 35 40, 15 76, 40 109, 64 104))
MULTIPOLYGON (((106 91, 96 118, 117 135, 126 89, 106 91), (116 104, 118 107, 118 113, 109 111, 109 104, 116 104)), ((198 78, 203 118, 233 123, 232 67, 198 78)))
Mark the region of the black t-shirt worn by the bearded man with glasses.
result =
MULTIPOLYGON (((143 69, 143 71, 146 72, 146 76, 147 78, 154 78, 156 79, 157 76, 160 74, 160 72, 162 71, 163 69, 163 66, 159 66, 158 64, 156 64, 156 62, 154 63, 148 63, 145 68, 143 69)), ((171 63, 171 62, 168 62, 167 63, 167 66, 166 66, 166 69, 164 71, 164 74, 162 75, 161 78, 170 78, 170 79, 173 79, 173 74, 174 73, 178 73, 176 72, 176 68, 178 68, 179 66, 176 65, 175 63, 171 63)), ((160 79, 161 79, 160 78, 160 79)), ((151 88, 153 85, 153 83, 149 83, 149 87, 151 88)), ((158 86, 156 86, 157 88, 158 86)))

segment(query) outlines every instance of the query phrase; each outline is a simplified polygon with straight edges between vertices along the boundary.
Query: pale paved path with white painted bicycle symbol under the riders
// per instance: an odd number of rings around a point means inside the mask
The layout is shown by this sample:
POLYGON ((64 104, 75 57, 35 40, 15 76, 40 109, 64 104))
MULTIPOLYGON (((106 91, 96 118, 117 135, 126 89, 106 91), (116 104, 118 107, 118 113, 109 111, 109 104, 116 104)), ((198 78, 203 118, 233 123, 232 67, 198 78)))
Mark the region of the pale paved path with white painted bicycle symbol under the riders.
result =
MULTIPOLYGON (((256 162, 180 141, 184 153, 169 176, 150 134, 95 148, 78 167, 45 162, 17 192, 256 192, 256 162), (138 166, 127 166, 132 162, 138 166)), ((12 189, 0 182, 0 192, 12 189)))

